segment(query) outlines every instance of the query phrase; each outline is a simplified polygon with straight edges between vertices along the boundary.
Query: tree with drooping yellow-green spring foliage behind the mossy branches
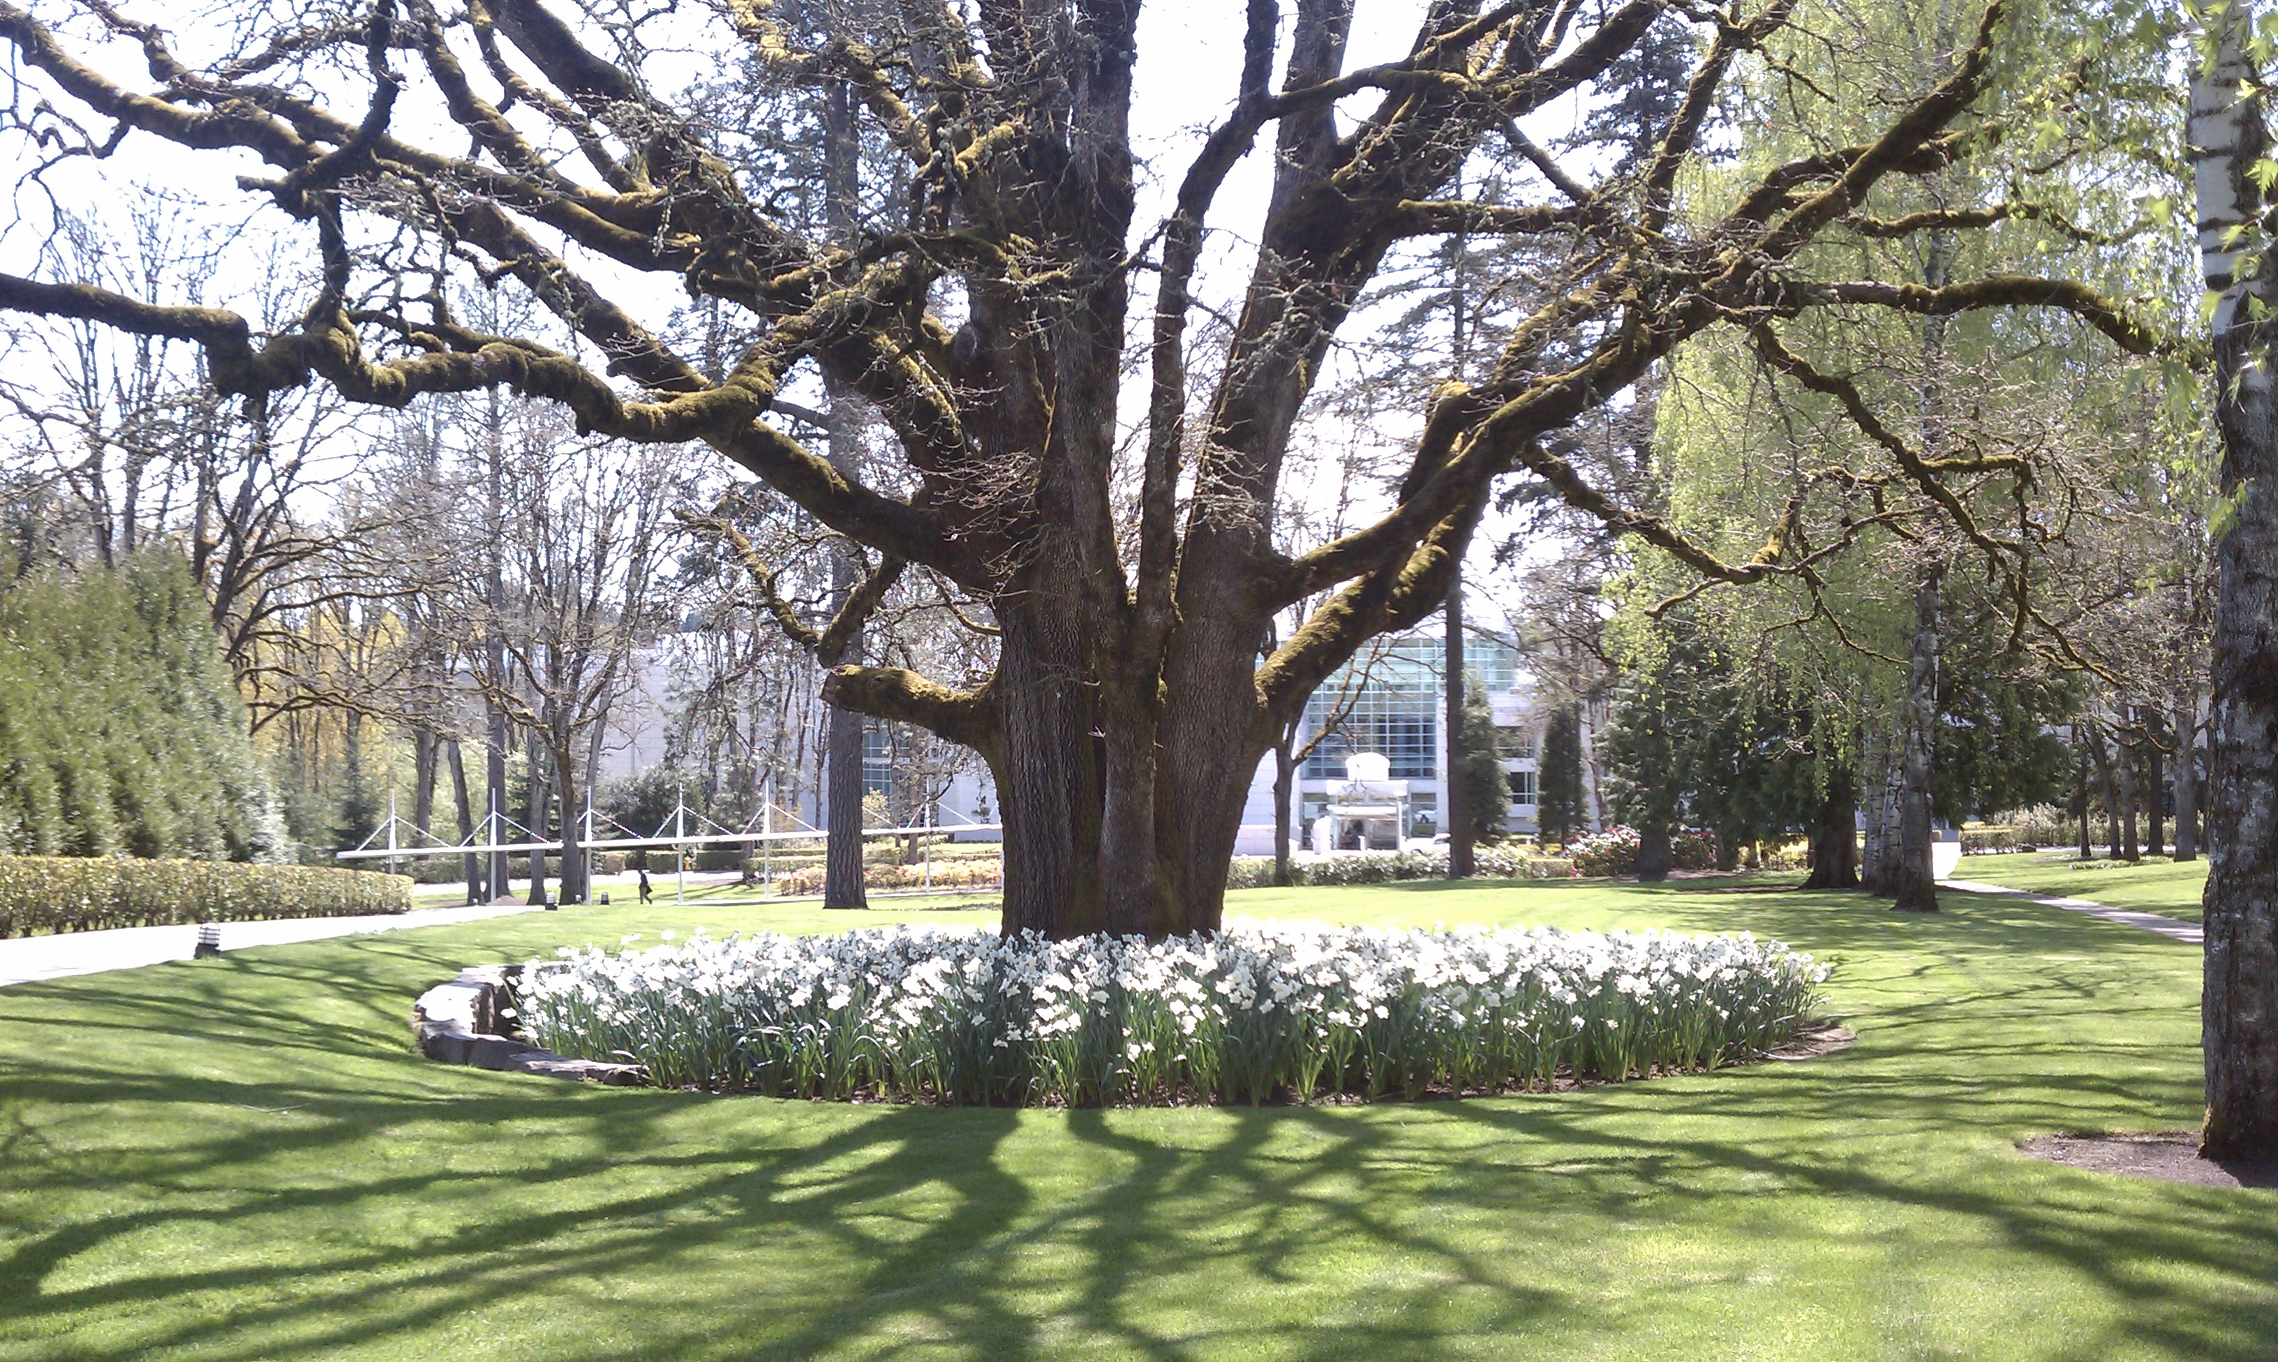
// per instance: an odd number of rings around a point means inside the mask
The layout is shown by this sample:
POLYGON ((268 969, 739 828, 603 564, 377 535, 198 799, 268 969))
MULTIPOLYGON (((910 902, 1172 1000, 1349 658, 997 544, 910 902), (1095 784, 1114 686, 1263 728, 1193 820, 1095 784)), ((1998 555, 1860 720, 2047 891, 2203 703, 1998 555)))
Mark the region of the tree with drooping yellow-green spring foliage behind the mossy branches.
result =
MULTIPOLYGON (((1734 87, 1736 155, 1683 182, 1690 228, 1768 169, 1868 134, 1950 68, 1964 20, 1943 0, 1800 11, 1734 87)), ((1900 906, 1934 906, 1941 640, 1996 631, 2014 661, 2109 665, 2087 615, 2123 585, 2114 544, 2191 446, 2175 351, 2119 355, 2055 312, 1870 305, 2043 278, 2128 298, 2166 335, 2189 323, 2171 16, 2025 2, 2009 23, 2034 41, 1991 64, 1998 98, 1955 130, 1970 155, 1884 178, 1800 255, 1818 278, 1877 282, 1695 337, 1658 408, 1670 522, 1727 560, 1775 563, 1756 583, 1770 590, 1711 592, 1688 613, 1822 713, 1822 774, 1832 790, 1863 774, 1870 884, 1900 906)), ((1652 665, 1654 617, 1699 583, 1640 551, 1631 624, 1613 635, 1629 665, 1652 665)))

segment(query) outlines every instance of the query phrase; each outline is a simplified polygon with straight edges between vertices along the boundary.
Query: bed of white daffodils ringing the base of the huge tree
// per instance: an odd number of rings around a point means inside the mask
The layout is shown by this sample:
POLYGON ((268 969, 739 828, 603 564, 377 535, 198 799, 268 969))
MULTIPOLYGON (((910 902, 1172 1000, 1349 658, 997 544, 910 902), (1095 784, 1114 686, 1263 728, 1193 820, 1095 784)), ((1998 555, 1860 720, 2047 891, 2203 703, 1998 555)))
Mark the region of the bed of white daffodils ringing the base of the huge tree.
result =
POLYGON ((1827 970, 1752 936, 986 929, 697 936, 524 970, 535 1043, 663 1086, 936 1102, 1264 1102, 1549 1086, 1747 1059, 1827 970))

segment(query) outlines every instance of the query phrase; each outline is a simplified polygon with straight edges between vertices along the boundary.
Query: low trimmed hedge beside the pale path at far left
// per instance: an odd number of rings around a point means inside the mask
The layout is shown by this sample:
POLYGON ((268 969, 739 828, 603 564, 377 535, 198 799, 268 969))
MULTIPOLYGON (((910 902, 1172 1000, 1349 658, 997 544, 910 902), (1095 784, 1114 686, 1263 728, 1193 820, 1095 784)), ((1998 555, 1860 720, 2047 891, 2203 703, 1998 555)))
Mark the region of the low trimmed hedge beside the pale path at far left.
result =
POLYGON ((0 856, 0 936, 255 918, 364 918, 410 906, 410 877, 369 870, 0 856))

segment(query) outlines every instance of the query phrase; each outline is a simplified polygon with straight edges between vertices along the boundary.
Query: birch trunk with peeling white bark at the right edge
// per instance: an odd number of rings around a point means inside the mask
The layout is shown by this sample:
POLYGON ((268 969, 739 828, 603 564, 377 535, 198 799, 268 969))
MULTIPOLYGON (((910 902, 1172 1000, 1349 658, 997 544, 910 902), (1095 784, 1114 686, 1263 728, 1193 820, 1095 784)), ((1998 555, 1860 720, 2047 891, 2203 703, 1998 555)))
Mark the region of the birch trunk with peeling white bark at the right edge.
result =
POLYGON ((2207 11, 2212 52, 2194 71, 2189 128, 2201 262, 2216 294, 2221 487, 2232 497, 2216 547, 2207 715, 2203 1150, 2232 1159, 2278 1157, 2278 435, 2271 260, 2262 241, 2244 239, 2262 210, 2251 171, 2269 155, 2269 130, 2262 109, 2239 96, 2257 77, 2248 57, 2255 9, 2232 0, 2207 11))

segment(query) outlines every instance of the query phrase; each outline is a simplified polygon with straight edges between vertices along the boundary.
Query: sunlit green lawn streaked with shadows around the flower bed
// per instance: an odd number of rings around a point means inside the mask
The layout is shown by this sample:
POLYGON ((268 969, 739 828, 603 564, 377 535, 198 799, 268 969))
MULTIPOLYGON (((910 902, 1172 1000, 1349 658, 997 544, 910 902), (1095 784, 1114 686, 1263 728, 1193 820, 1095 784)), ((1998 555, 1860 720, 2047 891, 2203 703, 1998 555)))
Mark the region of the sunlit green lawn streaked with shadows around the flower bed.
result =
MULTIPOLYGON (((2198 952, 2011 900, 1410 884, 1237 913, 1752 929, 1845 1052, 1465 1102, 1005 1111, 410 1052, 570 909, 0 991, 0 1357, 2273 1357, 2278 1193, 2016 1155, 2198 1116, 2198 952)), ((986 920, 986 913, 877 911, 986 920)))

